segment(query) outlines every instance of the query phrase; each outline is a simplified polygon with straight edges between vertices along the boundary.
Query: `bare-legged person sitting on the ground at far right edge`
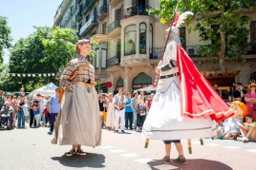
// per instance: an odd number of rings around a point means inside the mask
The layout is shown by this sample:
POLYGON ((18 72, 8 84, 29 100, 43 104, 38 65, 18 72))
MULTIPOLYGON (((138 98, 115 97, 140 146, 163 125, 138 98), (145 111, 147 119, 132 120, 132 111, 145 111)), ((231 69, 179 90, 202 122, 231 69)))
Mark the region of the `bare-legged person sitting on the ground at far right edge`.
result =
POLYGON ((243 136, 243 138, 238 138, 238 141, 256 141, 256 122, 252 122, 252 117, 250 115, 245 117, 245 123, 238 123, 238 126, 243 136))

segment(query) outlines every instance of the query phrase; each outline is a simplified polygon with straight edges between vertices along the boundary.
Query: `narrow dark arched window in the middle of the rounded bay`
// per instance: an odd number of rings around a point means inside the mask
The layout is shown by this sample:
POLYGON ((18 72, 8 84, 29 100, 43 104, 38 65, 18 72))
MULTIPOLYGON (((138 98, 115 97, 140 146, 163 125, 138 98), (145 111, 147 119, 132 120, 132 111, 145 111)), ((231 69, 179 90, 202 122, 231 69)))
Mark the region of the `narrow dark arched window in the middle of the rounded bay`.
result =
POLYGON ((145 23, 140 23, 139 25, 139 53, 145 54, 146 50, 146 40, 147 40, 147 26, 145 23))

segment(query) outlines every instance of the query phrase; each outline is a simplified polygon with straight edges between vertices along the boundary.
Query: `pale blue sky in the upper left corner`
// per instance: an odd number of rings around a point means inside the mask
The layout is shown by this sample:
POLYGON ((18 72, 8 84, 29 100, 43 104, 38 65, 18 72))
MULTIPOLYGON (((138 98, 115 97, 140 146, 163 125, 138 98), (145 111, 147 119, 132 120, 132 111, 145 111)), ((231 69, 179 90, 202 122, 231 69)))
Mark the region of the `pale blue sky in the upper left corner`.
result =
MULTIPOLYGON (((0 15, 8 18, 11 37, 15 44, 26 38, 32 26, 53 26, 53 18, 62 0, 0 0, 0 15)), ((9 62, 9 51, 5 50, 4 64, 9 62)))

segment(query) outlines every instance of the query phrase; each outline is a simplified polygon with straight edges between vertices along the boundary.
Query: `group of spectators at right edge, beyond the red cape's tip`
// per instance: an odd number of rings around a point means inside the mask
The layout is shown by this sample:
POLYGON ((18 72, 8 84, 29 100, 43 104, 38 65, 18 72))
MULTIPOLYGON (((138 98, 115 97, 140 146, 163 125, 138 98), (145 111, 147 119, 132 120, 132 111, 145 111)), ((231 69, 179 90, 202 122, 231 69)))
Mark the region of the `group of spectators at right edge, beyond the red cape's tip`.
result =
POLYGON ((216 138, 228 140, 230 138, 240 142, 256 141, 256 84, 248 85, 248 91, 241 83, 235 85, 233 95, 228 102, 233 107, 234 116, 217 123, 216 138), (244 114, 247 112, 247 115, 244 114))

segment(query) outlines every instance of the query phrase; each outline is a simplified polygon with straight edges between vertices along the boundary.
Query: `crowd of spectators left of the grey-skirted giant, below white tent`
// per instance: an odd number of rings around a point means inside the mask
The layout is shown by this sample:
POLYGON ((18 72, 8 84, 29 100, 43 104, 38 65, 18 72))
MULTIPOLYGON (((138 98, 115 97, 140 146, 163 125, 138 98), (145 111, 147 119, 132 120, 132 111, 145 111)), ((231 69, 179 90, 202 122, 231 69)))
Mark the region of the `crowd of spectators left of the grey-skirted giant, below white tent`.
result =
POLYGON ((53 96, 43 96, 40 93, 36 96, 26 97, 24 89, 21 88, 18 97, 12 93, 4 96, 4 91, 0 90, 0 127, 1 129, 38 128, 40 126, 50 127, 53 133, 53 123, 59 111, 58 88, 53 96))

